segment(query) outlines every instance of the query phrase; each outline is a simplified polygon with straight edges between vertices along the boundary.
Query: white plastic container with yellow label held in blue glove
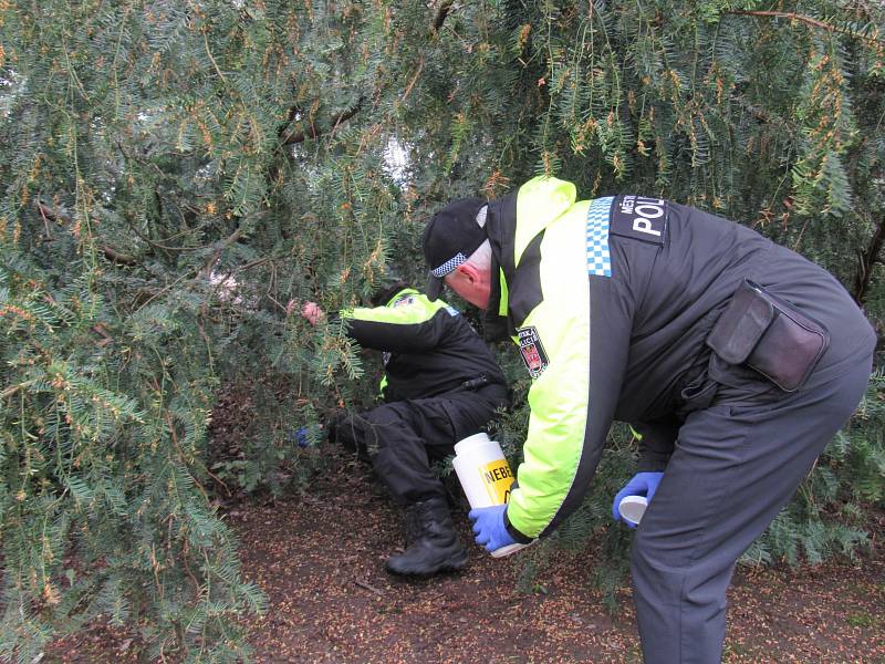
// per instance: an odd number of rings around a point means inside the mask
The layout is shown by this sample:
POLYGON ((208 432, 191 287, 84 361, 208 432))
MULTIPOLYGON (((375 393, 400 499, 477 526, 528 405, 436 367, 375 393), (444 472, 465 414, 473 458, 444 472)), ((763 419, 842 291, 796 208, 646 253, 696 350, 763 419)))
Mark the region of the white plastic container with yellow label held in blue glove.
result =
MULTIPOLYGON (((455 445, 455 473, 461 483, 471 509, 503 505, 510 498, 513 473, 501 446, 488 434, 473 434, 455 445)), ((494 558, 508 556, 528 544, 513 543, 491 552, 494 558)))

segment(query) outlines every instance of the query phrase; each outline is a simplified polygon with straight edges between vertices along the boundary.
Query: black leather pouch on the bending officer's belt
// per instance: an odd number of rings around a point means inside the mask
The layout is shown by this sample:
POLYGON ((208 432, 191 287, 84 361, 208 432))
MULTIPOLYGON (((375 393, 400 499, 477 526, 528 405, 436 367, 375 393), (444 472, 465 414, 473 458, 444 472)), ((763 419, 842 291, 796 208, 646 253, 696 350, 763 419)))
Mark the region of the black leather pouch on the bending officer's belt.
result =
POLYGON ((830 333, 789 302, 745 280, 707 345, 729 364, 745 364, 784 392, 794 392, 830 345, 830 333))

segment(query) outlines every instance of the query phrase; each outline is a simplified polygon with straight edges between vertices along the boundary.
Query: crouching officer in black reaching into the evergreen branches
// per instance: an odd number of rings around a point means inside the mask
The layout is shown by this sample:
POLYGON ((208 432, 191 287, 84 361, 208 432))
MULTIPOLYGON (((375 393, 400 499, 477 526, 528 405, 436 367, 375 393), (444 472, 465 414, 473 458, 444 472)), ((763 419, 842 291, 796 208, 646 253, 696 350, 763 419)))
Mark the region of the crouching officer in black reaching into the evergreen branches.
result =
MULTIPOLYGON (((467 562, 442 483, 431 464, 485 430, 508 405, 504 376, 486 343, 454 308, 405 282, 385 289, 374 308, 340 312, 361 346, 383 351, 384 404, 334 425, 331 436, 368 456, 406 511, 410 546, 387 560, 397 574, 428 575, 467 562)), ((315 324, 320 308, 302 315, 315 324)))

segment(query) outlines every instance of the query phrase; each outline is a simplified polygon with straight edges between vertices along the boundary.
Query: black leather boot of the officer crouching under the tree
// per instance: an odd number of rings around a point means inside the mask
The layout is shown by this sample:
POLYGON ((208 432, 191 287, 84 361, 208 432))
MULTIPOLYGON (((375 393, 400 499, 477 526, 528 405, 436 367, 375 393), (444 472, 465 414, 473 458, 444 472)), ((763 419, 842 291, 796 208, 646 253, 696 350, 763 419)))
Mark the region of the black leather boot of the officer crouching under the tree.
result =
POLYGON ((387 571, 395 574, 427 577, 459 570, 467 563, 467 549, 455 531, 444 498, 430 498, 406 508, 406 523, 412 546, 387 559, 387 571))

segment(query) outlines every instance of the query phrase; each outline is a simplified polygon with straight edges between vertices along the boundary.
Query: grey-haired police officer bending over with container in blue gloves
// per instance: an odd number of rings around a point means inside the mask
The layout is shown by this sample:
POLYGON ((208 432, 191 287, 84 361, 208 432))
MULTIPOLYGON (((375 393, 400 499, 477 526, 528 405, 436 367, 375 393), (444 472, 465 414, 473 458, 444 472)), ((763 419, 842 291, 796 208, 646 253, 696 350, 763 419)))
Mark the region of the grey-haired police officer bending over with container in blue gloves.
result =
POLYGON ((576 200, 535 178, 428 222, 445 282, 510 335, 532 377, 489 550, 551 532, 587 489, 613 419, 643 434, 631 481, 654 500, 632 572, 646 662, 718 662, 738 557, 861 400, 875 334, 825 270, 753 230, 644 196, 576 200), (665 473, 663 473, 666 470, 665 473))

